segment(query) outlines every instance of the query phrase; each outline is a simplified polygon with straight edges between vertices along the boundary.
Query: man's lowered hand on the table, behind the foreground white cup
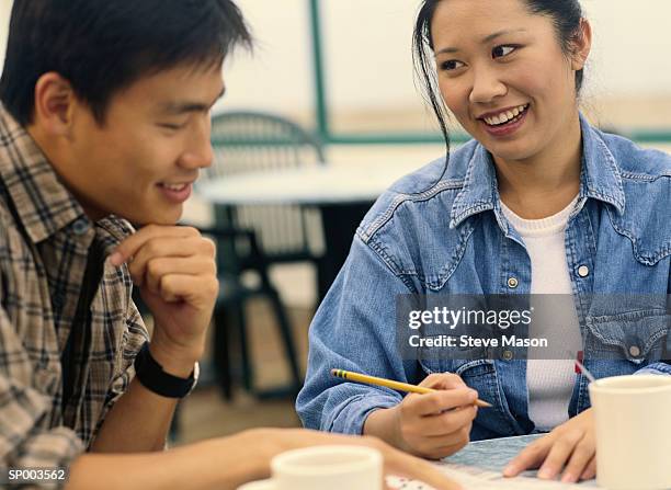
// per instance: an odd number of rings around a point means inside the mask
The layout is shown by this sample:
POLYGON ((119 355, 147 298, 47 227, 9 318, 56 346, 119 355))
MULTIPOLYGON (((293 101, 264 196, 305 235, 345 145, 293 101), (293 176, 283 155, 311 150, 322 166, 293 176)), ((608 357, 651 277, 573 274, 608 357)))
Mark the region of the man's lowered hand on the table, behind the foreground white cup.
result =
POLYGON ((257 447, 261 454, 264 454, 266 472, 270 472, 270 459, 285 451, 317 445, 348 444, 379 451, 384 458, 386 475, 421 480, 436 490, 458 490, 460 488, 430 463, 395 449, 377 437, 330 434, 306 429, 252 429, 246 434, 250 438, 250 447, 257 447))

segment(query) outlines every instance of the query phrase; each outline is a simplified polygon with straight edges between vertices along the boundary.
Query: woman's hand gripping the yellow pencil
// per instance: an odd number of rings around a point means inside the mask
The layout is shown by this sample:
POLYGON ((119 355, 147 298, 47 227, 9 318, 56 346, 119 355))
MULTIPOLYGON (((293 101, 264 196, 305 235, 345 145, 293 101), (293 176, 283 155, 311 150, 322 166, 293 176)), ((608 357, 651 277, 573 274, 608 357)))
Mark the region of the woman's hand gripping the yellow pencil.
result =
POLYGON ((478 392, 451 373, 432 374, 420 386, 437 391, 410 394, 394 408, 372 412, 364 433, 417 456, 431 459, 450 456, 468 444, 478 410, 474 404, 478 392))

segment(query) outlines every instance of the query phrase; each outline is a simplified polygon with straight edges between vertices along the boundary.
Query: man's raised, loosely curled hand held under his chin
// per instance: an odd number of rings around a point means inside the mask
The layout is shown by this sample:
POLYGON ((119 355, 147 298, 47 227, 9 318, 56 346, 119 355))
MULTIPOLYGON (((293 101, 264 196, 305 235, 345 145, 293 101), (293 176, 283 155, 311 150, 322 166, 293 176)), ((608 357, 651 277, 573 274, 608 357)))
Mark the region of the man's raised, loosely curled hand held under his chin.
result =
POLYGON ((186 377, 201 357, 218 293, 215 244, 195 228, 148 225, 110 257, 126 262, 155 318, 151 355, 168 373, 186 377))

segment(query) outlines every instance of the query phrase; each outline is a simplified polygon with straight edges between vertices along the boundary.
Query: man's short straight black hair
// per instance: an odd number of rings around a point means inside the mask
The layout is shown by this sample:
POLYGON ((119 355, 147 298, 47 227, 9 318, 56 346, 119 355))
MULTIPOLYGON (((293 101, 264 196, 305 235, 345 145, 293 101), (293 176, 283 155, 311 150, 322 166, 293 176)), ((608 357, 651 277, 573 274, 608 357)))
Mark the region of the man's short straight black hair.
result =
POLYGON ((0 100, 32 123, 35 84, 55 71, 103 123, 111 98, 178 66, 216 67, 251 36, 230 0, 14 0, 0 100))

